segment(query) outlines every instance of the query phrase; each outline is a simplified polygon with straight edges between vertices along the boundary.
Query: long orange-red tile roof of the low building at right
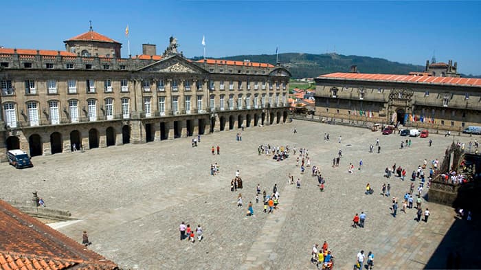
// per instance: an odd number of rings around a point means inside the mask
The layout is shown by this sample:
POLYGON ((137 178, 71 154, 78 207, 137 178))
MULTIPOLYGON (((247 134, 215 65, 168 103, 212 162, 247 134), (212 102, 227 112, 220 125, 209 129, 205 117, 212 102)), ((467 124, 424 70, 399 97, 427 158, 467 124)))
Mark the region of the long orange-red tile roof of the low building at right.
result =
POLYGON ((454 85, 481 87, 481 79, 457 78, 457 77, 434 77, 434 76, 412 76, 395 74, 359 74, 359 73, 331 73, 324 74, 317 78, 333 80, 359 80, 359 81, 383 81, 383 82, 409 82, 420 85, 454 85))

